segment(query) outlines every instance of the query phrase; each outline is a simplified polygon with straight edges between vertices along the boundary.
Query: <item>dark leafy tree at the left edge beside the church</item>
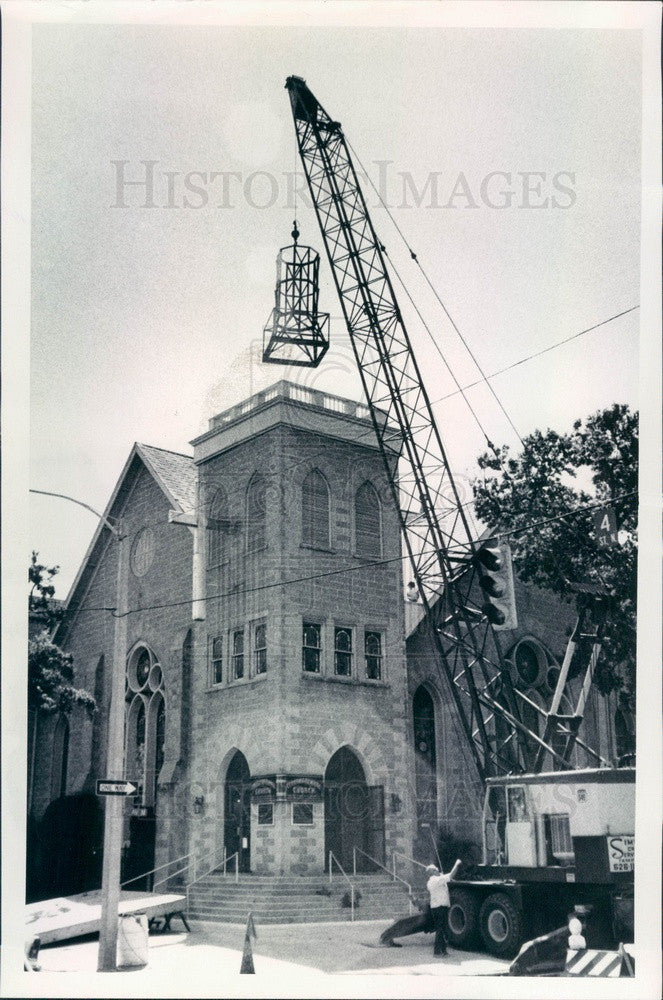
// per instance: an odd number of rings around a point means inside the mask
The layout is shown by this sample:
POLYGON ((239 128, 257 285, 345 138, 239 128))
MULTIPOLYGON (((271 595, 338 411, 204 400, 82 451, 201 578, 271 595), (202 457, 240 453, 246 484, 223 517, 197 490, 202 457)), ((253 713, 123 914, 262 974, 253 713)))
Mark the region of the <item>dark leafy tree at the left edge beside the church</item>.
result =
POLYGON ((62 617, 59 605, 53 600, 53 578, 58 571, 58 566, 44 566, 38 562, 38 553, 32 553, 28 607, 43 622, 44 628, 28 644, 28 706, 37 711, 59 711, 68 715, 78 704, 92 713, 95 708, 92 695, 74 687, 73 657, 51 640, 51 631, 62 617))

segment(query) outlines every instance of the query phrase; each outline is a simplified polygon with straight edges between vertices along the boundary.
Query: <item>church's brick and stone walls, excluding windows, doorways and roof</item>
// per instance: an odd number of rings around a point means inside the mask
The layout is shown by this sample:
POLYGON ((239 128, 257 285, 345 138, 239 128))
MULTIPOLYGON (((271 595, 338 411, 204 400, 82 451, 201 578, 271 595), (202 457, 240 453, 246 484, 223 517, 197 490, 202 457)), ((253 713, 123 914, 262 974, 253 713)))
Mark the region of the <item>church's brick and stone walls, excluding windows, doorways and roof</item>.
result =
MULTIPOLYGON (((341 747, 356 755, 369 786, 384 790, 385 856, 410 855, 416 834, 412 699, 424 684, 436 719, 439 820, 458 839, 480 842, 480 794, 449 693, 422 629, 407 643, 403 609, 401 543, 382 461, 371 444, 367 420, 289 404, 287 412, 263 408, 229 425, 214 425, 194 442, 197 527, 172 524, 173 503, 136 455, 129 464, 111 514, 122 515, 131 544, 148 527, 153 560, 142 575, 129 574, 129 651, 147 646, 164 675, 166 725, 159 775, 156 864, 193 852, 213 866, 224 849, 226 772, 237 751, 251 778, 309 775, 322 779, 341 747), (297 419, 290 419, 296 409, 297 419), (271 416, 270 416, 271 414, 271 416), (276 414, 276 416, 275 416, 276 414), (284 415, 285 414, 285 415, 284 415), (305 417, 303 419, 302 417, 305 417), (301 490, 317 469, 330 491, 329 545, 302 544, 301 490), (246 498, 256 475, 266 485, 265 545, 248 552, 246 498), (356 554, 354 497, 370 482, 380 498, 383 565, 366 565, 356 554), (211 504, 219 488, 227 496, 220 564, 207 566, 211 504), (204 561, 203 605, 192 608, 196 572, 194 534, 204 561), (352 572, 346 572, 348 566, 352 572), (343 572, 338 572, 343 570, 343 572), (299 582, 290 582, 299 581, 299 582), (167 607, 159 607, 168 605, 167 607), (204 608, 204 617, 199 615, 204 608), (144 609, 144 610, 140 610, 144 609), (192 613, 193 611, 193 613, 192 613), (302 625, 322 630, 320 674, 302 670, 302 625), (256 625, 266 624, 267 669, 256 674, 256 625), (334 627, 353 634, 350 678, 334 673, 334 627), (383 676, 365 676, 363 632, 383 639, 383 676), (231 678, 232 635, 244 633, 244 677, 231 678), (222 681, 213 683, 212 641, 223 645, 222 681), (203 800, 201 811, 194 800, 203 800)), ((110 668, 113 661, 116 545, 101 534, 88 558, 70 614, 58 641, 73 653, 76 683, 102 706, 94 719, 71 717, 67 792, 90 791, 106 773, 104 759, 110 668)), ((519 628, 503 635, 508 652, 534 636, 561 660, 571 608, 533 587, 517 583, 519 628)), ((614 706, 596 692, 588 712, 588 741, 606 749, 613 734, 614 706)), ((53 797, 53 731, 44 719, 32 812, 43 814, 53 797)), ((137 775, 127 775, 137 777, 137 775)), ((127 803, 130 811, 131 803, 127 803)), ((322 801, 313 801, 313 823, 292 823, 292 804, 274 802, 273 823, 259 826, 250 806, 252 870, 264 874, 316 874, 325 865, 322 801)))

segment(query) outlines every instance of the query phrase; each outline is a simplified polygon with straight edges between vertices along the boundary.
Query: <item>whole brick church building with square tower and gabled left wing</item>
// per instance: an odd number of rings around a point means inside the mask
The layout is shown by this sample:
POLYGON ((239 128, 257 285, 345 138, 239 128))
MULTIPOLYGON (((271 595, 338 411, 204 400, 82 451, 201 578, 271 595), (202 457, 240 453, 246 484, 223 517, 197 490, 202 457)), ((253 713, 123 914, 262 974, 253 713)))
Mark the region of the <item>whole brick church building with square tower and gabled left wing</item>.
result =
MULTIPOLYGON (((124 877, 182 857, 273 875, 430 860, 438 831, 479 843, 366 407, 279 382, 192 445, 135 445, 106 511, 130 546, 124 877)), ((104 710, 40 720, 37 820, 108 774, 116 550, 101 526, 55 637, 104 710)), ((572 609, 518 584, 518 611, 504 648, 541 701, 572 609)), ((609 699, 594 692, 588 715, 614 756, 609 699)))

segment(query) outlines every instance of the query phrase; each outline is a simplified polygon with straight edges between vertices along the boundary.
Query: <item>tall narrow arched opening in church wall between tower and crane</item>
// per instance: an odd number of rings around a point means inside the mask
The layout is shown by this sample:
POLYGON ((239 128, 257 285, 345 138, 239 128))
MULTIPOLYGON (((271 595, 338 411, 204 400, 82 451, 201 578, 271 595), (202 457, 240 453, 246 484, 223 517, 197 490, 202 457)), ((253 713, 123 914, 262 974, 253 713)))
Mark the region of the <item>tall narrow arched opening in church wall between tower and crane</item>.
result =
POLYGON ((435 704, 430 692, 418 687, 412 699, 414 772, 417 792, 416 854, 429 858, 437 843, 437 751, 435 704))

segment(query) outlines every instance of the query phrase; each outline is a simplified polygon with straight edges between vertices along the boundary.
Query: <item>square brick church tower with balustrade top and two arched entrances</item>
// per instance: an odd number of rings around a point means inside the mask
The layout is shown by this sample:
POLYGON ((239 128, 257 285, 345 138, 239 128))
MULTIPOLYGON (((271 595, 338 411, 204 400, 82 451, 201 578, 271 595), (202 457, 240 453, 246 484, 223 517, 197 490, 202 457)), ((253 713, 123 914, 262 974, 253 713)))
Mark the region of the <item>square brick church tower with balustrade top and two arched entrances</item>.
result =
POLYGON ((192 444, 189 850, 275 875, 409 853, 401 543, 367 408, 281 381, 192 444))

